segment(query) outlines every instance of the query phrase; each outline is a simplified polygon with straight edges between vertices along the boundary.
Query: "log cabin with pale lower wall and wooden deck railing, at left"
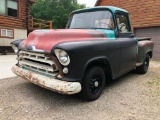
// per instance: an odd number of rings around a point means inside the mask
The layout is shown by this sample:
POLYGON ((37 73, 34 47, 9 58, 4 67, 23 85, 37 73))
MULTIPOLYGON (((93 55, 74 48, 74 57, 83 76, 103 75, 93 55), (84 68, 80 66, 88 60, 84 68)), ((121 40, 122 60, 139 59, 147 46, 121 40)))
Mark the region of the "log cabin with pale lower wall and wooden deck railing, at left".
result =
POLYGON ((41 29, 52 28, 51 21, 44 21, 30 16, 30 7, 36 0, 0 0, 0 54, 12 51, 10 42, 27 38, 27 34, 41 29), (38 28, 35 28, 35 26, 38 28))

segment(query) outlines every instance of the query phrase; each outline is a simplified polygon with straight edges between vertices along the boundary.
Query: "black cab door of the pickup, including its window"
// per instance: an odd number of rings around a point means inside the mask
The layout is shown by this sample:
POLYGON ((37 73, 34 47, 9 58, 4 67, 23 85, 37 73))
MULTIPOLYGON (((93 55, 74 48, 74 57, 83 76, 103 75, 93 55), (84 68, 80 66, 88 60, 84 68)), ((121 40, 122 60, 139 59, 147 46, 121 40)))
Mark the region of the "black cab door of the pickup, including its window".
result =
POLYGON ((117 12, 118 40, 120 42, 120 73, 124 74, 136 65, 137 39, 135 38, 128 13, 117 12))

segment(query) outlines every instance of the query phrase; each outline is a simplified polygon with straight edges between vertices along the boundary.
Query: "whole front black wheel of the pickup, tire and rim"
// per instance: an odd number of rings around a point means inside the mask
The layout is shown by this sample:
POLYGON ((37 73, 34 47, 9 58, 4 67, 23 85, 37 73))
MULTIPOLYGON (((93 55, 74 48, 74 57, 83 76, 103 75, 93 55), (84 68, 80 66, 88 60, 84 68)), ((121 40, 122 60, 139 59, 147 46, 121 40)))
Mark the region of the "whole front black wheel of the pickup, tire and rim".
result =
POLYGON ((82 82, 81 95, 87 101, 99 98, 105 86, 105 73, 101 67, 95 66, 88 69, 82 82))

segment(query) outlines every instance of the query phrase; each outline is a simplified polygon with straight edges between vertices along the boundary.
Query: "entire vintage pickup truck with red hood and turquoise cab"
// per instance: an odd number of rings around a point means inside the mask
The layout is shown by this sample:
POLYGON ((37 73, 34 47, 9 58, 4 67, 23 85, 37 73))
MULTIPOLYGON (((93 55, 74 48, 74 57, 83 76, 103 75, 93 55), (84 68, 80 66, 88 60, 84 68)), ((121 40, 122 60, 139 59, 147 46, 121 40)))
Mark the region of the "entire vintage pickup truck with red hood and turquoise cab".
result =
POLYGON ((17 52, 18 62, 12 67, 16 75, 92 101, 109 78, 133 69, 145 74, 154 43, 133 34, 126 10, 101 6, 72 12, 66 29, 36 30, 11 46, 17 52))

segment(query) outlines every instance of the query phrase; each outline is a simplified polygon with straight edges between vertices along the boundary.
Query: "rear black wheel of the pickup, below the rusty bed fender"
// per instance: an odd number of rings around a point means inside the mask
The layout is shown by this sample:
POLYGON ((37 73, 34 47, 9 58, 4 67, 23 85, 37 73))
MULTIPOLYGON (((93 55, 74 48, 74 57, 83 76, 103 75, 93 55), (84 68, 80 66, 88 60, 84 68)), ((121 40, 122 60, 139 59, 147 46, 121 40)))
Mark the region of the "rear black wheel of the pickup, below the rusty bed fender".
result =
POLYGON ((148 71, 149 61, 150 61, 150 56, 149 54, 146 54, 143 64, 136 68, 137 73, 145 74, 148 71))

